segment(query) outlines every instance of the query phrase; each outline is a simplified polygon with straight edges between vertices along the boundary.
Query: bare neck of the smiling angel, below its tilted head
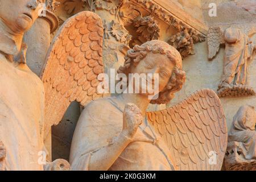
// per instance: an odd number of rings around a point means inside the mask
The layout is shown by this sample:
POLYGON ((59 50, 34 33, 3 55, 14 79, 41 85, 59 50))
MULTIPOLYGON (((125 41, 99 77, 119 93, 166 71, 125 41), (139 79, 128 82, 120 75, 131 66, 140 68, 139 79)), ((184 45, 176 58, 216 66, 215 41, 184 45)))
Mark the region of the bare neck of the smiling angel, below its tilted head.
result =
POLYGON ((148 99, 147 96, 135 93, 123 93, 119 97, 125 104, 131 102, 137 105, 139 109, 141 109, 142 111, 142 116, 144 117, 146 115, 147 107, 150 104, 150 100, 148 99))

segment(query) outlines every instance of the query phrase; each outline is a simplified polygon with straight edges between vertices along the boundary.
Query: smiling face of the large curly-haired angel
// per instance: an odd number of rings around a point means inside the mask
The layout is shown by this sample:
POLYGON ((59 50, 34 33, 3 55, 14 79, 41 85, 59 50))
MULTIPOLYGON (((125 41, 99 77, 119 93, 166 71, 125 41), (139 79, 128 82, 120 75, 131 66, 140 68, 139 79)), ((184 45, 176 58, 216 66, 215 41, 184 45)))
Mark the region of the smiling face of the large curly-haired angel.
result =
MULTIPOLYGON (((166 55, 160 53, 149 52, 144 59, 139 61, 138 65, 133 66, 131 73, 138 73, 139 75, 146 75, 146 83, 151 84, 151 88, 156 90, 158 87, 158 93, 161 92, 168 84, 171 76, 174 64, 168 59, 166 55), (150 74, 148 74, 150 73, 150 74), (158 79, 156 81, 155 79, 158 79)), ((150 94, 150 92, 142 93, 143 81, 139 85, 141 94, 150 94)), ((146 87, 147 88, 147 87, 146 87)), ((158 94, 154 93, 154 94, 158 94)))

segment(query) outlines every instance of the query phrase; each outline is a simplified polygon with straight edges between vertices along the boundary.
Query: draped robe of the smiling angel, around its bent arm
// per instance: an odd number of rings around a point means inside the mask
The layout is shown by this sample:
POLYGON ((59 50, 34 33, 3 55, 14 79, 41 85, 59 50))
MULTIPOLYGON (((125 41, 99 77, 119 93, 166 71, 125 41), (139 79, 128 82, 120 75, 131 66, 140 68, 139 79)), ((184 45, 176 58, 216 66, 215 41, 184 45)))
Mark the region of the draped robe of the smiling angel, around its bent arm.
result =
MULTIPOLYGON (((124 106, 122 107, 124 109, 124 106)), ((72 140, 69 162, 72 170, 89 170, 90 157, 102 147, 109 146, 123 126, 123 113, 105 98, 91 102, 82 111, 72 140)), ((174 160, 166 143, 150 125, 138 127, 131 142, 109 170, 151 171, 175 170, 174 160)))

